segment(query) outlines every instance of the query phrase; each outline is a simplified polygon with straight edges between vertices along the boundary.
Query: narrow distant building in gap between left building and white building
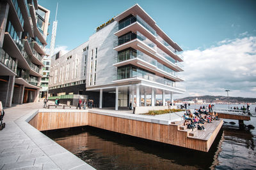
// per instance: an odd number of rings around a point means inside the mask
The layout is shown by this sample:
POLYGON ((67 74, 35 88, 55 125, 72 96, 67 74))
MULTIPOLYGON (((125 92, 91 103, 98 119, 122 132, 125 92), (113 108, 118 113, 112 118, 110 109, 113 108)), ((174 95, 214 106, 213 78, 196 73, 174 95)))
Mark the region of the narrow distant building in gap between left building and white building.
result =
POLYGON ((49 84, 49 75, 51 68, 51 59, 49 57, 44 57, 43 59, 44 67, 42 69, 41 85, 42 89, 40 89, 40 97, 48 97, 48 84, 49 84))

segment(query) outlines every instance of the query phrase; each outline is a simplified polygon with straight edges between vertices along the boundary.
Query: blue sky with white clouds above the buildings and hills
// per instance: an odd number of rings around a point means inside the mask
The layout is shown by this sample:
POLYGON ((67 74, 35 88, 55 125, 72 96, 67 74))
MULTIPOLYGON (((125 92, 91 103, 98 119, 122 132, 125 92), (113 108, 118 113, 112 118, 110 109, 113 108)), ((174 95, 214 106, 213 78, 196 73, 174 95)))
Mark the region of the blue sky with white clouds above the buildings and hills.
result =
POLYGON ((72 50, 95 28, 138 3, 184 50, 186 93, 175 96, 256 97, 256 1, 252 0, 39 0, 51 10, 59 2, 56 51, 72 50))

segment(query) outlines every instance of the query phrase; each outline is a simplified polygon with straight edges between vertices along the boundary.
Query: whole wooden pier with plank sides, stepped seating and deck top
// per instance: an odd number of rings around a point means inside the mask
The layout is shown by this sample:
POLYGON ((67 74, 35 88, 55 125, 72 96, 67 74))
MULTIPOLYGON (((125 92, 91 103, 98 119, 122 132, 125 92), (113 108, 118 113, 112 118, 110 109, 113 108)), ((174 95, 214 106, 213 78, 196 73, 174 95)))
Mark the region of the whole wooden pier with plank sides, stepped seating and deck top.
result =
POLYGON ((150 116, 104 113, 104 110, 100 112, 44 110, 31 118, 29 124, 39 131, 90 125, 138 138, 208 152, 221 129, 223 120, 214 120, 213 123, 205 124, 206 131, 192 131, 186 127, 182 128, 181 121, 157 120, 150 116))

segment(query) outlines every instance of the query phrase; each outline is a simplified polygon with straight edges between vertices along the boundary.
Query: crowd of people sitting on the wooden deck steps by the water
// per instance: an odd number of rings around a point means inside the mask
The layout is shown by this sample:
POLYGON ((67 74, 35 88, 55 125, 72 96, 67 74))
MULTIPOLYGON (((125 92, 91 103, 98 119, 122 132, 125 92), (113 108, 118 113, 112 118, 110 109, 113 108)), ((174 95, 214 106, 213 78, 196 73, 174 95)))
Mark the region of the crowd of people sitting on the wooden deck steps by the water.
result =
POLYGON ((186 113, 184 113, 184 125, 188 129, 192 129, 192 131, 196 128, 198 130, 204 130, 206 131, 204 124, 205 123, 212 123, 213 120, 220 120, 218 116, 209 115, 209 113, 206 110, 203 110, 202 106, 195 110, 194 113, 191 113, 190 110, 187 110, 186 113))

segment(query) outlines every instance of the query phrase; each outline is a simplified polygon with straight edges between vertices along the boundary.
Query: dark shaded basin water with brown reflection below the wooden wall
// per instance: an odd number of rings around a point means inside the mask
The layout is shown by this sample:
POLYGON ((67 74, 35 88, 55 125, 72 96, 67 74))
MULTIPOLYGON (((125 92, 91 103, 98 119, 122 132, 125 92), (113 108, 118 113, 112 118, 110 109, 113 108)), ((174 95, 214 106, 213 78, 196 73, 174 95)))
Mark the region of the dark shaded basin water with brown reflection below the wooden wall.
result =
POLYGON ((209 169, 221 134, 204 153, 93 127, 47 132, 47 136, 96 169, 209 169))

